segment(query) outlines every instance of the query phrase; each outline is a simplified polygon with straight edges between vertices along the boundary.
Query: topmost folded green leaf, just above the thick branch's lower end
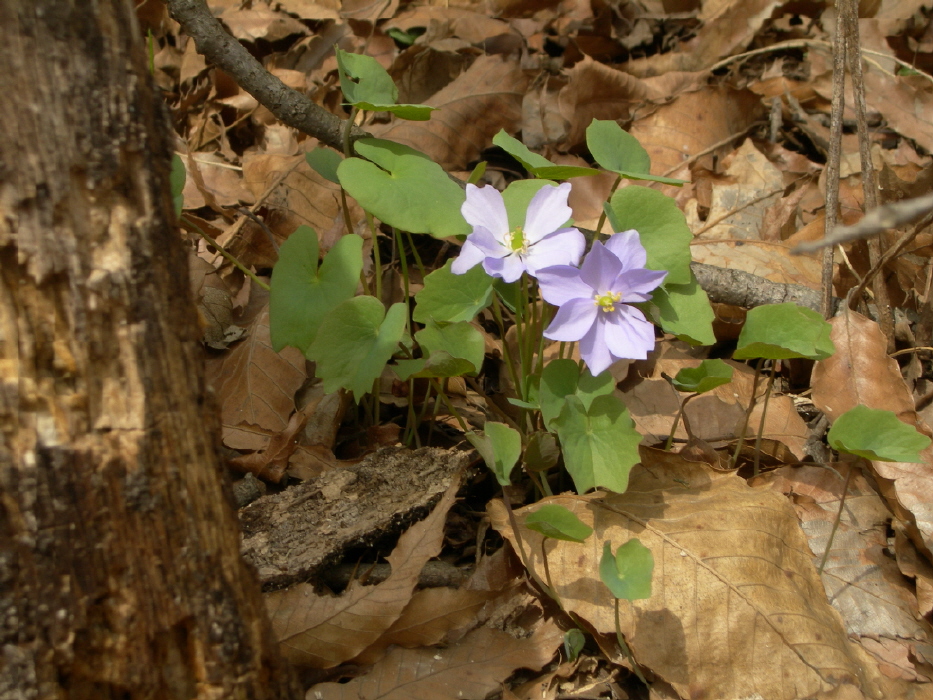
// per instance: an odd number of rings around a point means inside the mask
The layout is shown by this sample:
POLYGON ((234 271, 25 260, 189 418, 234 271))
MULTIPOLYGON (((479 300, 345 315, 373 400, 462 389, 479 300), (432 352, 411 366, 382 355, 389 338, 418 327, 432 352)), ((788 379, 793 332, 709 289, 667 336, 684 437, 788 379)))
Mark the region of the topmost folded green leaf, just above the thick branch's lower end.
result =
POLYGON ((337 49, 340 90, 350 104, 372 112, 392 112, 402 119, 424 121, 436 107, 399 105, 398 88, 386 69, 372 56, 337 49))

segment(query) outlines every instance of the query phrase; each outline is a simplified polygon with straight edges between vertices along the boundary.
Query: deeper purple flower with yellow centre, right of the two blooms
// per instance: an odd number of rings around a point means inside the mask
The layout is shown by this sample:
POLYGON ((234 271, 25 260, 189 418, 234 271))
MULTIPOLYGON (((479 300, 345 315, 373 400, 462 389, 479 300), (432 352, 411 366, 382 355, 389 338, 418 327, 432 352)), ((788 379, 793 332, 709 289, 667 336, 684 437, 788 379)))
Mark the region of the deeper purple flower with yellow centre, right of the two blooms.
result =
POLYGON ((580 341, 580 356, 593 376, 616 360, 643 360, 654 348, 654 326, 628 304, 648 301, 667 272, 645 269, 648 256, 634 229, 596 241, 579 269, 569 265, 538 272, 544 298, 560 308, 546 338, 580 341))

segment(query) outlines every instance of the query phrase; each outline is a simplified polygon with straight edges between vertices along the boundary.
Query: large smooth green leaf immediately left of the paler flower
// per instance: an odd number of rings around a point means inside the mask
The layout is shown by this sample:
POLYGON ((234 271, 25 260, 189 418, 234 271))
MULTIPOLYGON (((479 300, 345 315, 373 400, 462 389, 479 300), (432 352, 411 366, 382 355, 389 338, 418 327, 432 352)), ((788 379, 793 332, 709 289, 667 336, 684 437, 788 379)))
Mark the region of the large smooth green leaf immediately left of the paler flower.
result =
POLYGON ((460 213, 466 194, 437 163, 414 148, 383 139, 360 139, 354 147, 369 160, 347 158, 337 177, 363 209, 411 233, 437 238, 470 233, 460 213))

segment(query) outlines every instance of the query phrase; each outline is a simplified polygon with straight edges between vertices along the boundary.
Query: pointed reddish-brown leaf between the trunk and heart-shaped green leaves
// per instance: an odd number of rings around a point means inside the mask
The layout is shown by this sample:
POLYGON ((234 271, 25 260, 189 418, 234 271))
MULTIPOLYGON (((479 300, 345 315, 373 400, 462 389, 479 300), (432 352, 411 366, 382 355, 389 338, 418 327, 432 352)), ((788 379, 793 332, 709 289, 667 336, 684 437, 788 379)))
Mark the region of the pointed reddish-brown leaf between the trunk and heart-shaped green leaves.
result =
POLYGON ((246 340, 208 360, 207 370, 225 425, 249 423, 275 432, 288 425, 295 392, 307 376, 301 351, 272 350, 268 305, 253 321, 246 340))

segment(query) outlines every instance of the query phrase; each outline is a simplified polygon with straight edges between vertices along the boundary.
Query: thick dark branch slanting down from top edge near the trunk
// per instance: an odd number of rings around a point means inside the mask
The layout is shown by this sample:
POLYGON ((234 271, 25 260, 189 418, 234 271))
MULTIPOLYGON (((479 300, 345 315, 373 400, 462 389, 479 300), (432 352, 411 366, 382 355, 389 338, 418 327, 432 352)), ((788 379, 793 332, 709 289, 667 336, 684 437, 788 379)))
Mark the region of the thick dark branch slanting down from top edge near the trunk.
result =
MULTIPOLYGON (((282 123, 343 150, 344 120, 269 73, 239 41, 226 32, 204 0, 166 0, 172 18, 194 39, 198 53, 229 73, 237 84, 282 123)), ((353 138, 367 136, 353 129, 353 138)))

